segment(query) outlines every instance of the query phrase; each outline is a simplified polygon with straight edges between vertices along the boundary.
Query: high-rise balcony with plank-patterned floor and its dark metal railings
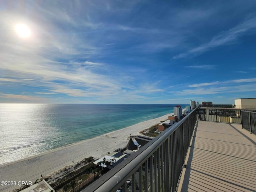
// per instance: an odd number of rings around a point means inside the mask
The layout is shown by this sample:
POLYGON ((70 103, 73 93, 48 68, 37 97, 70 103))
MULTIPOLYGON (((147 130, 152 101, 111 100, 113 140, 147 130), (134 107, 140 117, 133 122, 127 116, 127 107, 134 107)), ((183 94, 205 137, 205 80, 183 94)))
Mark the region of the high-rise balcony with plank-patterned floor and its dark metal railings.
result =
POLYGON ((255 191, 256 113, 236 114, 246 129, 193 110, 83 191, 255 191))

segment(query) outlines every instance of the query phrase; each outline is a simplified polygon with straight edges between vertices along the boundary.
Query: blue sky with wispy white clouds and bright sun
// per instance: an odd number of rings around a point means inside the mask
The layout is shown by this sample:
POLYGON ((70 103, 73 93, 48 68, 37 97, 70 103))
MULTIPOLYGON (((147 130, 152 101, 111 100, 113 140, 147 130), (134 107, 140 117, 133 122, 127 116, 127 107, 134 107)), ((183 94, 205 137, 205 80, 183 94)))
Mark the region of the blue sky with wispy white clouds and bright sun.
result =
POLYGON ((256 98, 255 0, 2 0, 0 103, 256 98))

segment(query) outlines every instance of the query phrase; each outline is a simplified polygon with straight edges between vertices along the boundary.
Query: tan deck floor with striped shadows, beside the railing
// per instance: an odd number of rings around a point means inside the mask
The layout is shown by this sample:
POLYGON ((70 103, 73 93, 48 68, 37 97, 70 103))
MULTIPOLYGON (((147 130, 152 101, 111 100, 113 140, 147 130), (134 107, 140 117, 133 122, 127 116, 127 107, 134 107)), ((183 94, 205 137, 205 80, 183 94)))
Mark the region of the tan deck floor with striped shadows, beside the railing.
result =
POLYGON ((256 135, 240 124, 199 121, 178 191, 256 191, 256 135))

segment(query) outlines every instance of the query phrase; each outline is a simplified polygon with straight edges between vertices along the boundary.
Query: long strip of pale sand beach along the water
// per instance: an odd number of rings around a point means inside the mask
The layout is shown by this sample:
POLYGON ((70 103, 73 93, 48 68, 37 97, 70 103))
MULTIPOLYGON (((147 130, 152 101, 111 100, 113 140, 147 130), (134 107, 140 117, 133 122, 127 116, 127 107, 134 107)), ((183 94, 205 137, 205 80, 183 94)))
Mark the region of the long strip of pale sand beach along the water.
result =
MULTIPOLYGON (((41 174, 43 176, 48 175, 65 166, 69 166, 73 164, 72 160, 78 162, 89 156, 101 158, 108 152, 112 152, 118 148, 124 148, 128 143, 130 134, 139 135, 140 131, 160 123, 161 120, 168 119, 168 116, 172 114, 140 122, 121 130, 60 147, 36 156, 0 165, 0 182, 32 181, 34 183, 36 179, 40 178, 41 174)), ((16 187, 18 186, 0 185, 0 191, 9 191, 16 187)))

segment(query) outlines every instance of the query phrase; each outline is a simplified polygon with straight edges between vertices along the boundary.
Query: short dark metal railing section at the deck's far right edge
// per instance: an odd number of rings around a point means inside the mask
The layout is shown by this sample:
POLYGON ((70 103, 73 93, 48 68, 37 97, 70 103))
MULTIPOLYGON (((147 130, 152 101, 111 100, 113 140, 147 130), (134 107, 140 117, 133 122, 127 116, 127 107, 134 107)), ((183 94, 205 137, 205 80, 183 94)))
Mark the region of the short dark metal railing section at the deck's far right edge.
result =
POLYGON ((256 134, 256 112, 241 111, 242 128, 256 134))

